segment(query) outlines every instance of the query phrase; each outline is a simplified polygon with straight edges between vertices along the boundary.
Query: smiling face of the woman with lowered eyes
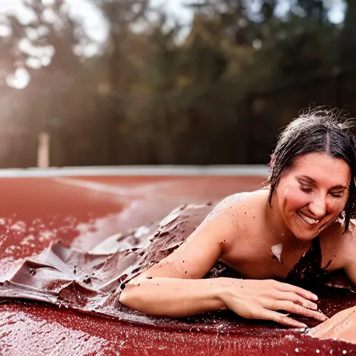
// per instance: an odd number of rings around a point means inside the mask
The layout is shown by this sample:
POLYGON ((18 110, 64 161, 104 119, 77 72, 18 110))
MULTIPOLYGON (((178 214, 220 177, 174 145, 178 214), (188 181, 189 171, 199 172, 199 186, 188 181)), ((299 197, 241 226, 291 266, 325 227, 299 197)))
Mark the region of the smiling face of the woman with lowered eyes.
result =
POLYGON ((348 200, 350 179, 343 159, 320 153, 296 158, 276 189, 284 223, 296 238, 309 241, 337 220, 348 200))

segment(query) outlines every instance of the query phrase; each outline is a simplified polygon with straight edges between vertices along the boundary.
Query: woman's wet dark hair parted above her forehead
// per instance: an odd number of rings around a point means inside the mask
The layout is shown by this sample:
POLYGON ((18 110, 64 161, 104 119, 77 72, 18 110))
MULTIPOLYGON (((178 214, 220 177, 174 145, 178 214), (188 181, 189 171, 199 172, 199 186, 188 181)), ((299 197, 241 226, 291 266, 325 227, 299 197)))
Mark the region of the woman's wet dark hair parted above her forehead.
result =
POLYGON ((356 120, 345 109, 331 106, 309 106, 300 111, 284 128, 270 160, 270 176, 266 186, 270 187, 268 202, 271 204, 273 193, 280 179, 293 167, 298 156, 317 152, 343 159, 350 166, 351 181, 348 200, 344 207, 345 231, 350 218, 356 216, 356 120))

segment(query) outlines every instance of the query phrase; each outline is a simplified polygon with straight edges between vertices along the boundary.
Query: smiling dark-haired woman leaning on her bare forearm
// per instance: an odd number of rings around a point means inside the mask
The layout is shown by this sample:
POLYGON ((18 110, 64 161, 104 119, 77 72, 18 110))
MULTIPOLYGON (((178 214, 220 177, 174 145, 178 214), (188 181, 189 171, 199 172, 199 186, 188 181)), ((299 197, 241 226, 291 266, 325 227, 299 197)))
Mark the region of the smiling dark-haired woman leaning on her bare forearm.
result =
MULTIPOLYGON (((321 250, 323 273, 344 268, 356 283, 355 143, 346 111, 302 111, 277 140, 264 188, 225 198, 177 250, 131 280, 120 302, 161 316, 231 309, 294 327, 305 324, 280 311, 325 321, 318 297, 288 282, 308 251, 321 250), (217 261, 244 279, 204 279, 217 261)), ((310 272, 298 275, 305 282, 310 272)))

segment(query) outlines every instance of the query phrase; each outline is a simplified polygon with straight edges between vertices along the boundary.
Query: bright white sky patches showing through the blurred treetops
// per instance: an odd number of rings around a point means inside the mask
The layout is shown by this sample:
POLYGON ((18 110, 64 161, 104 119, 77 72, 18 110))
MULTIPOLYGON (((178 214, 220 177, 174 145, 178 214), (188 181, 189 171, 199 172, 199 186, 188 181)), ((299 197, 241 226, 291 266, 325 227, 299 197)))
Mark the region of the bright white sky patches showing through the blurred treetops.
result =
MULTIPOLYGON (((27 0, 31 1, 31 0, 27 0)), ((51 3, 53 0, 42 0, 43 3, 51 3)), ((70 15, 81 19, 83 28, 92 39, 92 43, 83 43, 79 45, 75 51, 78 54, 85 56, 92 56, 97 53, 100 44, 105 42, 108 28, 106 26, 105 19, 102 14, 92 5, 90 0, 65 0, 68 8, 70 9, 70 15)), ((193 12, 191 9, 183 6, 184 3, 188 3, 188 0, 150 0, 152 8, 165 9, 171 15, 172 18, 179 20, 181 24, 189 25, 193 18, 193 12)), ((199 0, 197 0, 199 1, 199 0)), ((250 0, 257 8, 259 7, 259 0, 250 0)), ((296 1, 296 0, 295 0, 296 1)), ((344 17, 345 4, 343 0, 323 0, 325 6, 329 9, 328 16, 330 21, 334 23, 341 23, 344 17)), ((26 9, 22 5, 23 0, 0 0, 0 19, 1 14, 13 13, 17 15, 19 21, 26 24, 31 21, 33 14, 30 10, 26 9)), ((290 0, 280 0, 277 6, 277 13, 283 16, 289 10, 290 0)), ((44 14, 46 19, 50 22, 55 22, 53 13, 50 11, 44 14)), ((186 28, 188 31, 188 28, 186 28)), ((8 28, 6 25, 0 23, 0 36, 8 35, 8 28)), ((35 31, 28 33, 29 38, 31 35, 35 36, 35 31)), ((31 45, 30 40, 22 40, 19 44, 22 51, 25 51, 33 58, 29 60, 26 65, 33 68, 40 68, 51 63, 51 56, 54 54, 54 49, 51 47, 35 48, 31 45)), ((30 76, 26 72, 26 69, 19 68, 15 74, 8 76, 6 82, 9 86, 15 88, 25 88, 30 81, 30 76)))

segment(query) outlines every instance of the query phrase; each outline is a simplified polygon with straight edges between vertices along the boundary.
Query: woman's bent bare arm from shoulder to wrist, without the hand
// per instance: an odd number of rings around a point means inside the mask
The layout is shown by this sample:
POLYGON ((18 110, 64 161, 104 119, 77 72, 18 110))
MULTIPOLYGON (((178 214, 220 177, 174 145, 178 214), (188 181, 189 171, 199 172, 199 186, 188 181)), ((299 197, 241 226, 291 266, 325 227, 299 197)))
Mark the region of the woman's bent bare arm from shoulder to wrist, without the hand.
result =
POLYGON ((183 316, 224 309, 216 281, 201 280, 223 254, 234 232, 232 209, 238 198, 227 197, 172 254, 131 280, 120 302, 147 314, 183 316))

